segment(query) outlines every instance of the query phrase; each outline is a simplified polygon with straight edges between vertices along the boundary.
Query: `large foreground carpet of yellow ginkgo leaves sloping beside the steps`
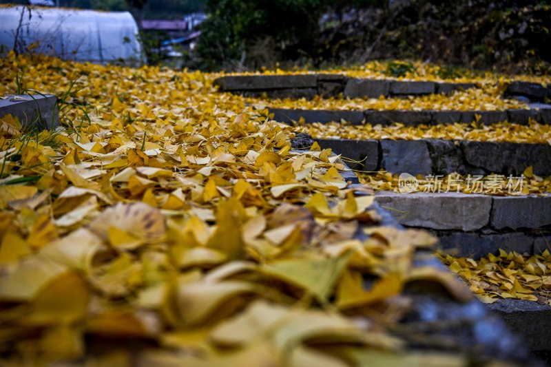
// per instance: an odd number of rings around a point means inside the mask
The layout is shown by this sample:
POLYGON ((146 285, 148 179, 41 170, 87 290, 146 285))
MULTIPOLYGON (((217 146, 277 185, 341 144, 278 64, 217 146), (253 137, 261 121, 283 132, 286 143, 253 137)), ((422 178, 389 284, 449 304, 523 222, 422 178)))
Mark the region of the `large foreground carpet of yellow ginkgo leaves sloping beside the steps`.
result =
POLYGON ((14 54, 0 68, 0 93, 65 99, 64 129, 1 120, 0 364, 465 363, 385 333, 410 281, 470 299, 413 265, 435 239, 373 226, 371 189, 346 189, 338 157, 290 151, 291 127, 214 75, 14 54))

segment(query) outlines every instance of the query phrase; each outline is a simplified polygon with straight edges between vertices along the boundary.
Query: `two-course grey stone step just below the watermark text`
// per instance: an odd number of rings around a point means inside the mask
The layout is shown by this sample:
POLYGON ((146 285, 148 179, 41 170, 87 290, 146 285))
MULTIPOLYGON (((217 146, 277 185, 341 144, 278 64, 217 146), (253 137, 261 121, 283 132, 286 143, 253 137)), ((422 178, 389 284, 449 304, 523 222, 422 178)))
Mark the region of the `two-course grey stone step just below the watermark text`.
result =
POLYGON ((551 195, 378 191, 375 201, 400 224, 433 232, 440 249, 456 256, 551 251, 551 195))

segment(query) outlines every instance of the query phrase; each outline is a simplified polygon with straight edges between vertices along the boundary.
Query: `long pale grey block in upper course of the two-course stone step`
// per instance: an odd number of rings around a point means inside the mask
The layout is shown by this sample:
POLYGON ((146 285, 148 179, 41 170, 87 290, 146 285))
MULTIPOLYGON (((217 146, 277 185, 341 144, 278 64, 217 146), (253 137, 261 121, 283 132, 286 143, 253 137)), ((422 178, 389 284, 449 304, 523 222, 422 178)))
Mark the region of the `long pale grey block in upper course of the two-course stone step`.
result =
POLYGON ((466 193, 395 193, 380 191, 375 200, 400 224, 428 229, 475 231, 488 224, 492 198, 466 193))

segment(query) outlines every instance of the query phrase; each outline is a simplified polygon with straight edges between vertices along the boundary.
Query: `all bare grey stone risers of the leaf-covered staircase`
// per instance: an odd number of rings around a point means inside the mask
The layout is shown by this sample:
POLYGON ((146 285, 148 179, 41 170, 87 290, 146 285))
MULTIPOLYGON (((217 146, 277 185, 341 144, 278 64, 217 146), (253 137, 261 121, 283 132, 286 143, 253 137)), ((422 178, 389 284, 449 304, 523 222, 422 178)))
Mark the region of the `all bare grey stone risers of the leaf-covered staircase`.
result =
MULTIPOLYGON (((477 87, 474 83, 435 83, 348 78, 334 74, 227 76, 216 81, 221 92, 271 98, 313 98, 338 96, 378 98, 379 96, 422 96, 448 94, 477 87)), ((451 123, 490 125, 508 121, 528 125, 551 123, 551 85, 515 81, 505 96, 529 103, 529 109, 506 111, 379 111, 308 110, 270 108, 269 117, 282 123, 330 123, 352 125, 371 123, 406 126, 451 123)), ((349 140, 318 138, 322 148, 356 163, 352 169, 392 174, 444 175, 501 174, 520 176, 532 166, 541 176, 551 174, 551 145, 496 143, 468 140, 349 140)), ((357 182, 351 178, 351 182, 357 182)), ((379 191, 376 201, 388 209, 399 224, 432 231, 440 247, 455 255, 480 258, 498 249, 519 253, 551 250, 551 195, 488 196, 467 193, 396 193, 379 191)), ((551 361, 551 307, 521 300, 499 300, 488 309, 499 313, 515 333, 522 335, 534 353, 551 361)))

